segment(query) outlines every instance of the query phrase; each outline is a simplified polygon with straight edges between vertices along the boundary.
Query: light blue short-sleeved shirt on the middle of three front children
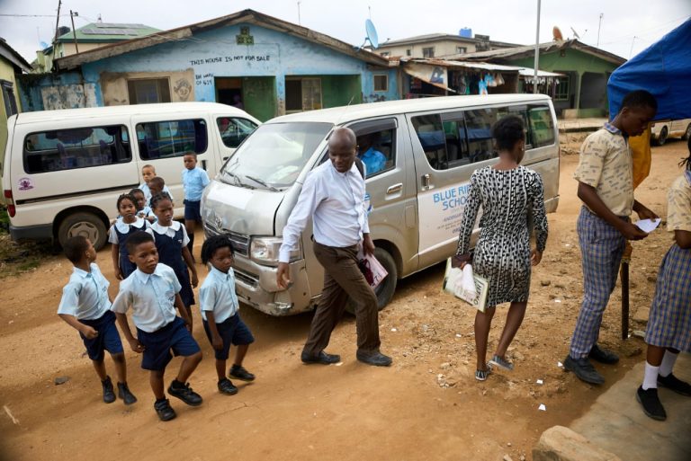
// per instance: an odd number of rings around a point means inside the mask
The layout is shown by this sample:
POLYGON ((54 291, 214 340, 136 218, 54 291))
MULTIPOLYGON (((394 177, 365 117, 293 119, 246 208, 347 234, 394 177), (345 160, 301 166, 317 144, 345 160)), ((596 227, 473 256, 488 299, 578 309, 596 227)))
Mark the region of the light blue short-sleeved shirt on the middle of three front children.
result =
POLYGON ((175 271, 158 263, 153 273, 137 269, 121 281, 120 292, 111 310, 126 314, 132 308, 132 320, 143 332, 156 332, 175 320, 175 294, 180 292, 175 271))

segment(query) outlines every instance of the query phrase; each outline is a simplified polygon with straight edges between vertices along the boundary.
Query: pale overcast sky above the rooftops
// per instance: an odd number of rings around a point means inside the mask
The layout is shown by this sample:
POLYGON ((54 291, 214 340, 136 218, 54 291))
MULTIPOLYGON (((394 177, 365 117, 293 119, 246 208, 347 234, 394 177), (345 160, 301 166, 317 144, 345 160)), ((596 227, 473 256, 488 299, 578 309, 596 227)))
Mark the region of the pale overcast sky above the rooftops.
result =
MULTIPOLYGON (((64 0, 59 23, 70 25, 71 9, 79 13, 77 29, 100 14, 103 22, 139 22, 166 30, 245 8, 298 23, 298 4, 301 25, 354 45, 363 43, 368 17, 380 42, 456 34, 462 27, 491 40, 535 40, 537 0, 64 0)), ((0 16, 0 36, 31 62, 40 41, 49 43, 55 34, 57 8, 58 0, 0 0, 0 14, 46 16, 0 16)), ((552 40, 552 27, 558 26, 565 39, 573 37, 573 28, 581 41, 596 45, 600 13, 600 48, 630 58, 691 16, 691 0, 543 0, 540 40, 552 40)))

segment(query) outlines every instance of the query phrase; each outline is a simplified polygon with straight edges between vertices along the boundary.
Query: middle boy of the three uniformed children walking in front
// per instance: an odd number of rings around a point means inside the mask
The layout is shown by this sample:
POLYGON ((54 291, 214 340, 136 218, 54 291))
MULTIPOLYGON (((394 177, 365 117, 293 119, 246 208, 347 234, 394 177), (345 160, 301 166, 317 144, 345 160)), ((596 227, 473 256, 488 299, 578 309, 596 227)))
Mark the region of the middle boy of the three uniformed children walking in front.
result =
POLYGON ((180 299, 180 283, 175 271, 158 263, 154 237, 143 231, 136 232, 127 240, 127 249, 137 270, 121 282, 112 311, 132 350, 143 353, 141 368, 150 371, 149 383, 156 395, 154 409, 158 418, 170 421, 175 418, 175 411, 164 393, 164 373, 173 359, 170 350, 184 359, 177 377, 168 387, 168 394, 192 406, 201 405, 202 397, 192 390, 187 379, 202 361, 202 351, 190 333, 192 318, 180 299), (130 306, 137 338, 132 335, 127 321, 130 306), (175 315, 175 307, 182 318, 175 315))

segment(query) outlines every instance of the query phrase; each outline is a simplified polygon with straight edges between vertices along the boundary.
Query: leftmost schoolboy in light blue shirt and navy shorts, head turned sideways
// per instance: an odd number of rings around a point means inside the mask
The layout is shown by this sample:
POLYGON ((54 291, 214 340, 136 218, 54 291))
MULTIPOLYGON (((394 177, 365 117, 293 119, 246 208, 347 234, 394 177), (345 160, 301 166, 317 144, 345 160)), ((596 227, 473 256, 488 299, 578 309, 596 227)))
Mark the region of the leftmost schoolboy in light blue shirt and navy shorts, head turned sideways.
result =
POLYGON ((106 374, 104 351, 110 352, 118 374, 118 396, 125 404, 137 402, 127 386, 127 368, 115 315, 110 311, 108 280, 96 265, 94 245, 82 235, 71 237, 63 245, 67 259, 74 264, 69 282, 62 290, 58 315, 79 332, 86 353, 94 364, 103 386, 103 402, 115 401, 111 377, 106 374))

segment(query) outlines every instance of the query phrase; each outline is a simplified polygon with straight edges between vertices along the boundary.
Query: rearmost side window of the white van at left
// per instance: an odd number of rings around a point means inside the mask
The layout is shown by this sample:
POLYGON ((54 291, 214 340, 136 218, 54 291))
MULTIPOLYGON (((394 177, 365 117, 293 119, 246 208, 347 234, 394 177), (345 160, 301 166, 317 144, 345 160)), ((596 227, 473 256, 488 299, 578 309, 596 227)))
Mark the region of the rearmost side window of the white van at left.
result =
POLYGON ((26 173, 48 173, 132 160, 127 128, 121 125, 57 129, 24 138, 26 173))

